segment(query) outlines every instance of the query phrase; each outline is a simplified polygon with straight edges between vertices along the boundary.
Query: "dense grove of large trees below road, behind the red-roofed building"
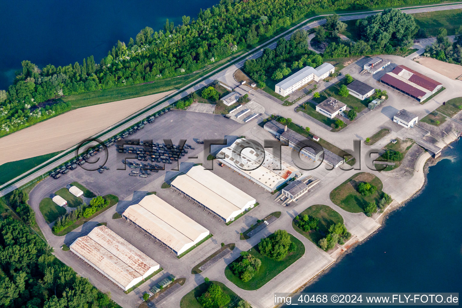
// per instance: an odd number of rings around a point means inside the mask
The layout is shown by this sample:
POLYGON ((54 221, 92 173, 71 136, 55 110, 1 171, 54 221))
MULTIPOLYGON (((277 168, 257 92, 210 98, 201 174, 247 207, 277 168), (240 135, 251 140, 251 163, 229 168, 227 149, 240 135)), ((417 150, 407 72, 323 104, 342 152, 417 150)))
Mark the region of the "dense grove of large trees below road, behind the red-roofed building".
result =
MULTIPOLYGON (((342 29, 345 29, 341 25, 342 23, 339 26, 339 22, 335 21, 335 18, 338 17, 334 15, 331 21, 331 24, 336 25, 334 30, 329 28, 328 30, 337 35, 342 29)), ((325 27, 328 27, 328 24, 325 27)), ((324 58, 403 52, 413 45, 413 37, 419 30, 412 15, 395 9, 385 9, 380 14, 358 19, 356 27, 360 33, 358 41, 337 40, 337 42, 330 42, 324 51, 324 58)), ((317 39, 322 39, 322 33, 317 34, 317 39)))

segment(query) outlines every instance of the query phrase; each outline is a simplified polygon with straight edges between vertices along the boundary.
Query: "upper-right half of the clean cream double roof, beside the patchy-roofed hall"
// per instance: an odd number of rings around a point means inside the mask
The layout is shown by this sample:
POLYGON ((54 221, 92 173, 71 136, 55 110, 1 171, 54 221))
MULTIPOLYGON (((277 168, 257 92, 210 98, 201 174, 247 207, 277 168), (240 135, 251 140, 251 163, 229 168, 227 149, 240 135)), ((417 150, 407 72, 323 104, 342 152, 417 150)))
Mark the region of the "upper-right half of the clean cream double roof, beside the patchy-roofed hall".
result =
POLYGON ((220 195, 223 199, 231 202, 240 209, 255 204, 255 198, 225 181, 210 170, 204 169, 201 165, 194 166, 186 173, 193 180, 201 183, 214 193, 220 195))

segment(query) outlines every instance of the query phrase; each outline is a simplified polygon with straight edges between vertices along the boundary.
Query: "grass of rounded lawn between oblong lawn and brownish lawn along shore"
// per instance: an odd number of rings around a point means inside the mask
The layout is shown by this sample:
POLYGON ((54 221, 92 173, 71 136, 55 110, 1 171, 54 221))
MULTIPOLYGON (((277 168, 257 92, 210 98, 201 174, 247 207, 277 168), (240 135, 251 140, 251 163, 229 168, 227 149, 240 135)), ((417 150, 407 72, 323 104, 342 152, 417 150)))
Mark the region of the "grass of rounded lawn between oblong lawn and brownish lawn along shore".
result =
POLYGON ((309 208, 298 214, 298 217, 303 217, 305 214, 310 217, 319 218, 319 230, 310 230, 308 232, 304 232, 295 224, 295 218, 292 220, 292 227, 295 229, 295 231, 316 245, 320 239, 326 237, 331 224, 343 223, 343 217, 338 212, 323 204, 311 205, 309 208))

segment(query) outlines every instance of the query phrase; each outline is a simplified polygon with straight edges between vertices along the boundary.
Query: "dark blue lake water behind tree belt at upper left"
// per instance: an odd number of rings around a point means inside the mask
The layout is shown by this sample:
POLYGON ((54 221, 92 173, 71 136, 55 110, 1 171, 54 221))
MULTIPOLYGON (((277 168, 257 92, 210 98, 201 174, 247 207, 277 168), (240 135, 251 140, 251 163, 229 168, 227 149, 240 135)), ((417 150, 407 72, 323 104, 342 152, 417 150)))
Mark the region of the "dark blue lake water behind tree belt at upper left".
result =
POLYGON ((99 63, 117 40, 128 42, 144 27, 181 24, 218 0, 0 1, 0 89, 7 89, 22 60, 39 67, 68 65, 94 55, 99 63))

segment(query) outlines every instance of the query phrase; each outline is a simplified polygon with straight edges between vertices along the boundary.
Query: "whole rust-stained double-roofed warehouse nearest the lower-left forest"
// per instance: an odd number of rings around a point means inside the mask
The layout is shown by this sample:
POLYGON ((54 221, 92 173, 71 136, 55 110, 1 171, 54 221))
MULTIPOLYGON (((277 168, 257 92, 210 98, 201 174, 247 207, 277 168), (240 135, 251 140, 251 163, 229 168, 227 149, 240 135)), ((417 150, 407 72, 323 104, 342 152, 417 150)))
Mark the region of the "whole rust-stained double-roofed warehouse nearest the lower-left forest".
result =
POLYGON ((69 248, 124 291, 160 268, 156 261, 106 226, 94 228, 69 248))

